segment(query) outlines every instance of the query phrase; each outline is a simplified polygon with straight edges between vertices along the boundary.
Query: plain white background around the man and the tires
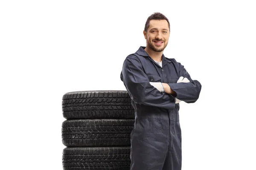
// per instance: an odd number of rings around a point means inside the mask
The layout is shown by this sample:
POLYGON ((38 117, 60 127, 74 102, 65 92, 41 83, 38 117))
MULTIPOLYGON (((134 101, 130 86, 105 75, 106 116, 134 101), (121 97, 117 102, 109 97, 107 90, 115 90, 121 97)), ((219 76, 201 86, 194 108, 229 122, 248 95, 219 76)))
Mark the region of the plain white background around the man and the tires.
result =
POLYGON ((253 0, 3 0, 0 2, 1 170, 62 170, 62 96, 126 90, 129 54, 161 12, 164 54, 202 90, 180 103, 182 170, 256 170, 253 0))

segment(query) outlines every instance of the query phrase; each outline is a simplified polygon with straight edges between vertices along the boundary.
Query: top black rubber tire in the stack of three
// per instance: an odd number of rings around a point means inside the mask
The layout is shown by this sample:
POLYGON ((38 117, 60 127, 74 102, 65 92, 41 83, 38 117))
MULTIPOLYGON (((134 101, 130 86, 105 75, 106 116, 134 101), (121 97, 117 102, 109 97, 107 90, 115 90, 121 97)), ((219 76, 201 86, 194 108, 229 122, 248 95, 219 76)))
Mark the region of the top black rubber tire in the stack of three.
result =
POLYGON ((75 91, 62 97, 66 119, 134 118, 134 108, 127 91, 75 91))

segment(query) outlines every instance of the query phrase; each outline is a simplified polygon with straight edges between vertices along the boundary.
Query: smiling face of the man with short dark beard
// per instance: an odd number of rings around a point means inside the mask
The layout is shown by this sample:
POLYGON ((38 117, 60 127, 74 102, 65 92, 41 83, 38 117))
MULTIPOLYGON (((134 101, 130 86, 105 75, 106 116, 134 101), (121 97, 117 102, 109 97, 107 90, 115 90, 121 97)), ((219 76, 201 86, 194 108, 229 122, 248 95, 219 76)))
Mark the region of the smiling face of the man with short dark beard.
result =
POLYGON ((166 48, 170 36, 166 20, 150 20, 147 33, 143 31, 147 46, 153 51, 161 52, 166 48))

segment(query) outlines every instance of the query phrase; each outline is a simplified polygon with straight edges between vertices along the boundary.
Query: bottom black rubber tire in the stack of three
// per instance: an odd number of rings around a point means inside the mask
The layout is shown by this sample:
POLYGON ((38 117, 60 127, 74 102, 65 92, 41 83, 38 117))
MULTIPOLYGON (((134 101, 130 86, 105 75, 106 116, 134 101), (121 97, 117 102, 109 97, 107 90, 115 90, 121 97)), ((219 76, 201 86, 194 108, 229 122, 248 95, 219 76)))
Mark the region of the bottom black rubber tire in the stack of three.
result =
POLYGON ((66 147, 64 170, 130 170, 130 147, 66 147))

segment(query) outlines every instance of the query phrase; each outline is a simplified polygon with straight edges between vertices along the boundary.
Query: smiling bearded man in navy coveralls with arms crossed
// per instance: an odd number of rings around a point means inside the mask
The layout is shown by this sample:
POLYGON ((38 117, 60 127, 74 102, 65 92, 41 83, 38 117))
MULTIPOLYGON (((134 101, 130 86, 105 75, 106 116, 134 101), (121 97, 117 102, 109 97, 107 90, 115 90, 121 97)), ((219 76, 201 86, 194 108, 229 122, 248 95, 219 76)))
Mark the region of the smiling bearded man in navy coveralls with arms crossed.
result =
POLYGON ((163 14, 149 16, 143 34, 146 47, 128 55, 121 72, 135 111, 131 170, 181 170, 179 102, 196 102, 201 84, 163 55, 170 36, 163 14))

